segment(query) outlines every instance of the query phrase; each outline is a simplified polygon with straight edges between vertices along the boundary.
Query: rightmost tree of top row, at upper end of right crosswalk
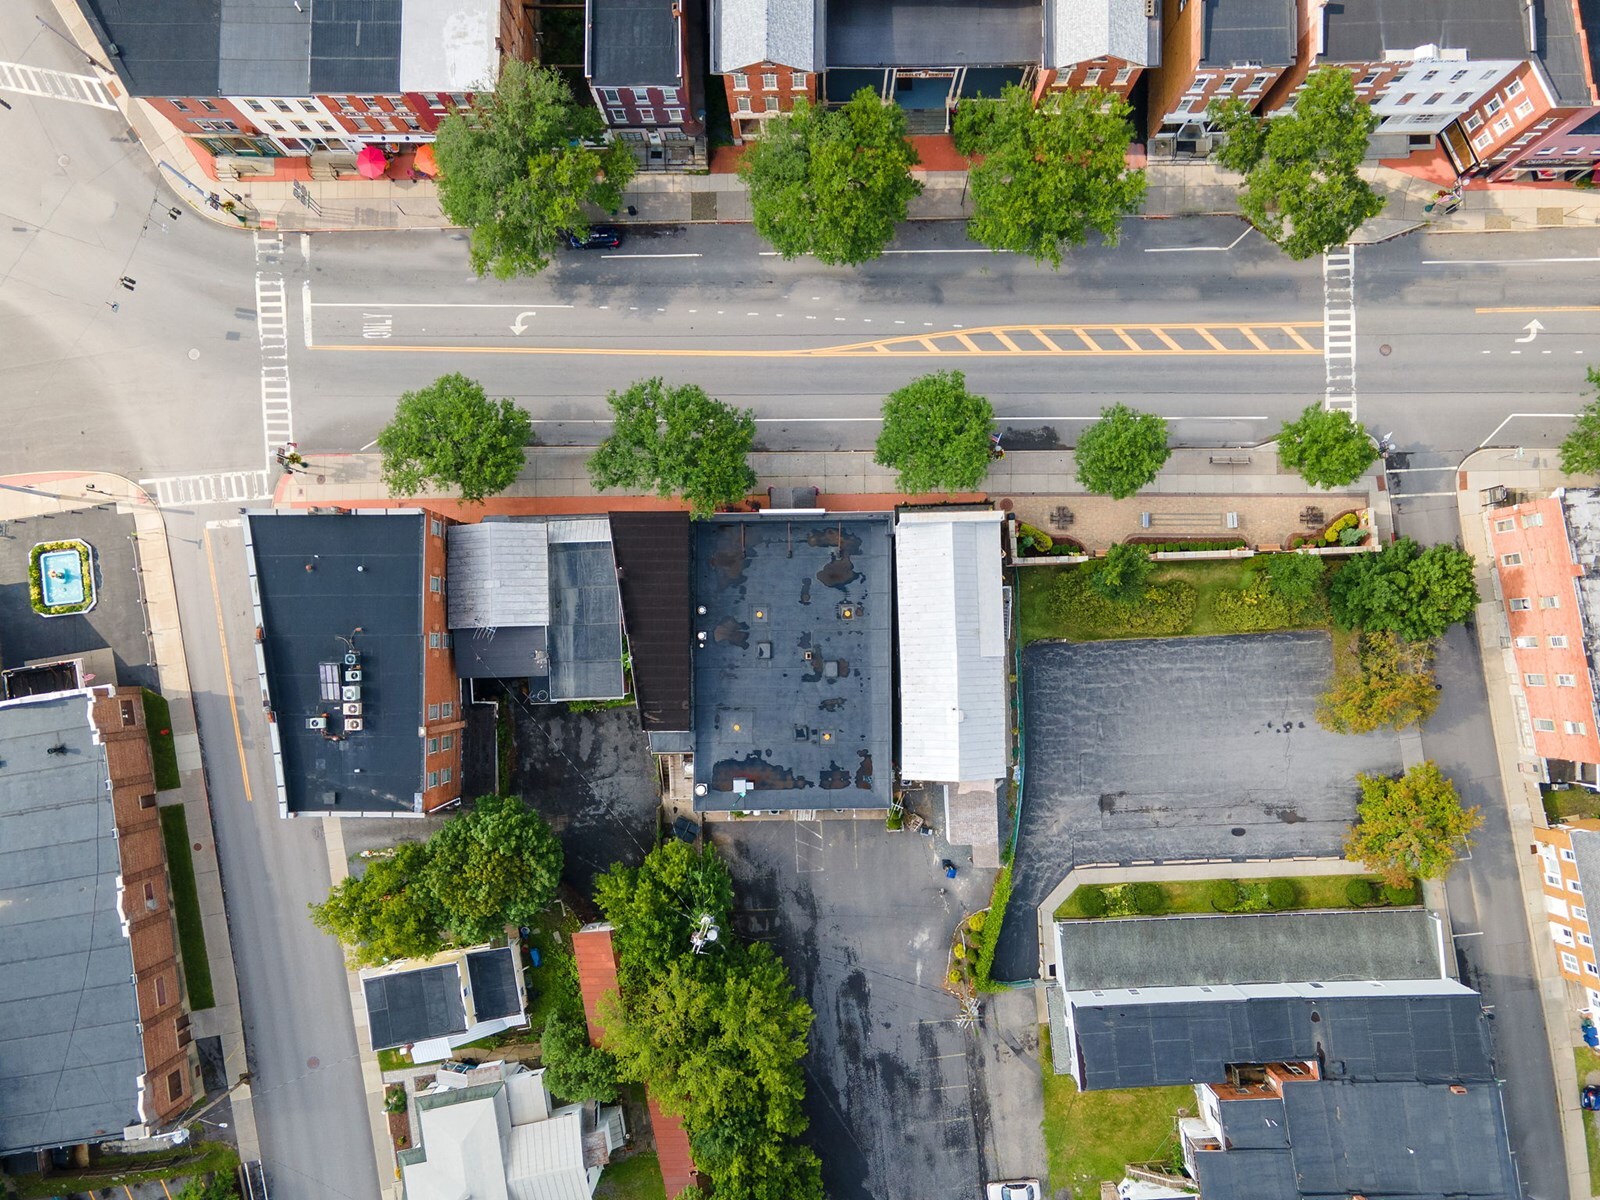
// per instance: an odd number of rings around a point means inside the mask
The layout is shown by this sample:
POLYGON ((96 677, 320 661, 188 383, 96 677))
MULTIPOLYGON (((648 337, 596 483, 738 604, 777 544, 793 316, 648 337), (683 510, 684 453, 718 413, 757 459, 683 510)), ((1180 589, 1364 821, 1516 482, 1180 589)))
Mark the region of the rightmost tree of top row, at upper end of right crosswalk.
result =
POLYGON ((1358 173, 1378 115, 1346 67, 1314 70, 1288 112, 1258 117, 1226 99, 1206 115, 1227 134, 1216 162, 1245 176, 1240 211, 1290 258, 1341 246, 1382 211, 1384 198, 1358 173))

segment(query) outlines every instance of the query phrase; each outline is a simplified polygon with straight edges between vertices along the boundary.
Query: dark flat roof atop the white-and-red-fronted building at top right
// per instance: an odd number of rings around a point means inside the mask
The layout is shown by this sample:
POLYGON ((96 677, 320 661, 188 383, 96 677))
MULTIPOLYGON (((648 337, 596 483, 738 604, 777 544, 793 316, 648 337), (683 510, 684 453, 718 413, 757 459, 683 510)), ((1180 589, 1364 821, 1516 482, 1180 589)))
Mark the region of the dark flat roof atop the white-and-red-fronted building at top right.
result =
POLYGON ((1342 0, 1323 10, 1325 62, 1381 62, 1390 50, 1437 45, 1474 61, 1528 56, 1522 0, 1342 0))

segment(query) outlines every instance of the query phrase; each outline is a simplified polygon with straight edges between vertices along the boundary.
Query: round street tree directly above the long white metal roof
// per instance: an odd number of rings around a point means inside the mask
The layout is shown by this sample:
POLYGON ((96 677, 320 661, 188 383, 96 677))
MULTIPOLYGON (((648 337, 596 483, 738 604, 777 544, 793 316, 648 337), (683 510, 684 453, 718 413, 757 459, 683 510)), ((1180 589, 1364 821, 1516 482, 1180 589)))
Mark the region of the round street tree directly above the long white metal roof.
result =
POLYGON ((995 410, 960 371, 912 379, 883 402, 872 461, 899 472, 901 491, 976 491, 989 474, 995 410))

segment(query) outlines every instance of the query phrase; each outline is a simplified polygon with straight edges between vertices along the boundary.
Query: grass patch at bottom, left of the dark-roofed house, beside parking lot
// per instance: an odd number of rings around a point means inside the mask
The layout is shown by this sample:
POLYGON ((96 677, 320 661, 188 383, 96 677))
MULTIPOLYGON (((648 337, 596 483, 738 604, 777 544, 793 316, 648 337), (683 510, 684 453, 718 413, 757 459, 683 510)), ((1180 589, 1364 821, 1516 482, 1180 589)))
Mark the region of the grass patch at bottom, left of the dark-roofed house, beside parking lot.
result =
POLYGON ((1098 1200, 1101 1182, 1122 1179, 1128 1163, 1166 1162, 1179 1114, 1195 1112, 1194 1088, 1078 1091, 1070 1075, 1050 1069, 1050 1030, 1042 1034, 1050 1186, 1070 1187, 1074 1200, 1098 1200))

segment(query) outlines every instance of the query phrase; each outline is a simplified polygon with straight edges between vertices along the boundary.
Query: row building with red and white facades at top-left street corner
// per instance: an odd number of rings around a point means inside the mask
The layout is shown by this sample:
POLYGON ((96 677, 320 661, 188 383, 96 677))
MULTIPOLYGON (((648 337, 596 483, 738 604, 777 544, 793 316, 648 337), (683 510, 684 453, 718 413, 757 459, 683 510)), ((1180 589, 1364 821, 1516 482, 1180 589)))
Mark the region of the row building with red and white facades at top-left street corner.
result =
POLYGON ((533 40, 518 0, 78 3, 128 93, 224 160, 432 141, 533 40))

